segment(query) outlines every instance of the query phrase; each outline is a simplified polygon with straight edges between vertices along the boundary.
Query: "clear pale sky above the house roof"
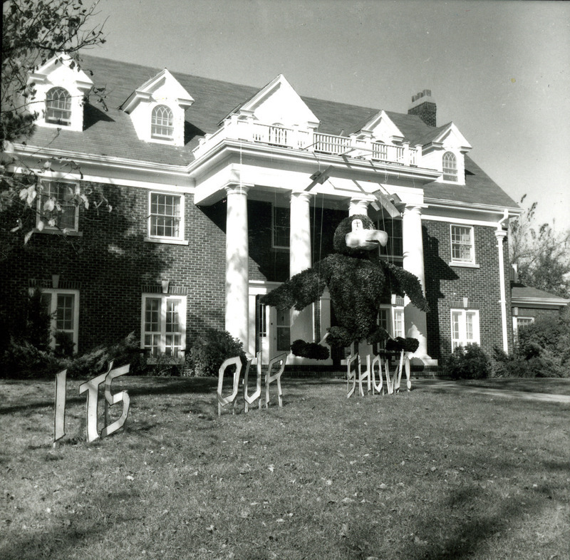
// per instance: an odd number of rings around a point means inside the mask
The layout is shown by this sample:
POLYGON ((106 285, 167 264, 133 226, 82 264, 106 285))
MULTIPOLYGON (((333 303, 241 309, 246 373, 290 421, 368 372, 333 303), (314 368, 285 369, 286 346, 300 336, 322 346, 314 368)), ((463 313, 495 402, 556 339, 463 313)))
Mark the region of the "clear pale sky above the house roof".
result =
POLYGON ((570 227, 570 2, 100 0, 95 56, 407 113, 432 90, 470 156, 570 227))

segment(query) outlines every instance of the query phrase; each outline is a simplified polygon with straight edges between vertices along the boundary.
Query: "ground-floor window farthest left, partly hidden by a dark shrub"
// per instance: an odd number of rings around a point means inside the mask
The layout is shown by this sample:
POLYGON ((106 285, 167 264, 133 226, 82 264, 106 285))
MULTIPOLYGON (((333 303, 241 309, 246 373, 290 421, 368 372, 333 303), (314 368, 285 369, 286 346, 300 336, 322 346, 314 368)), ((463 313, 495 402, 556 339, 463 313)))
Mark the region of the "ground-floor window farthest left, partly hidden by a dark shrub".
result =
POLYGON ((73 353, 77 352, 79 292, 76 290, 43 289, 41 301, 51 315, 51 347, 61 347, 62 338, 73 344, 73 353), (56 333, 58 336, 56 337, 56 333))

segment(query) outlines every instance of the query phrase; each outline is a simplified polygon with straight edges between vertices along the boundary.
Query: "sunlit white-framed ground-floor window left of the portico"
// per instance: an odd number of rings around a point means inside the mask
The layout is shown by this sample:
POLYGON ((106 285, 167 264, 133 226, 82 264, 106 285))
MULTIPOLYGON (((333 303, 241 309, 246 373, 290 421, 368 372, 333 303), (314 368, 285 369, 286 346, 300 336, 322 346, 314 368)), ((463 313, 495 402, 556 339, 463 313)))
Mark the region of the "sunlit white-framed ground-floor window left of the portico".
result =
POLYGON ((142 296, 142 348, 152 357, 180 357, 186 348, 186 298, 142 296))

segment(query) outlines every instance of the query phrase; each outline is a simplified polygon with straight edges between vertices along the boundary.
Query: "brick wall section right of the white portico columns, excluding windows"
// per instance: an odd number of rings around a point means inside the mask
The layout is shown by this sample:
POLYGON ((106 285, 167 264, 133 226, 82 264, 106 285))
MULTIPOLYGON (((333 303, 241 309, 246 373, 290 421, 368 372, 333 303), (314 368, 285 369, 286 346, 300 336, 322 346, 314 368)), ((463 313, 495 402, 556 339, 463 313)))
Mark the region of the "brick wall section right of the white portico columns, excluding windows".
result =
MULTIPOLYGON (((449 266, 451 261, 450 223, 423 220, 425 288, 431 311, 427 313, 427 351, 444 359, 451 352, 450 309, 463 297, 469 308, 479 309, 481 347, 492 356, 494 346, 502 348, 502 321, 499 289, 499 254, 494 227, 475 226, 475 257, 479 268, 449 266), (455 300, 455 302, 454 302, 455 300)), ((503 274, 507 287, 507 331, 512 348, 507 241, 503 245, 503 274)))

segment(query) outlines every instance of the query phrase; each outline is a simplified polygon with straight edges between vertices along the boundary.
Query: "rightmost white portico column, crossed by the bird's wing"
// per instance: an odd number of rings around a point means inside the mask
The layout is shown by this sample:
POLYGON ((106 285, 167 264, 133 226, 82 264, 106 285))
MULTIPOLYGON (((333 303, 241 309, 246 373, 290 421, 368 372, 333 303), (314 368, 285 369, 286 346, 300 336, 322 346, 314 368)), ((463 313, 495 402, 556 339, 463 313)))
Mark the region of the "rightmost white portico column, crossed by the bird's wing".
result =
MULTIPOLYGON (((415 274, 420 279, 425 294, 425 271, 423 264, 422 217, 420 206, 406 206, 402 217, 402 237, 404 249, 404 270, 415 274)), ((427 355, 427 321, 425 312, 420 311, 405 298, 404 322, 406 336, 418 338, 420 346, 415 351, 415 358, 429 358, 427 355)))

